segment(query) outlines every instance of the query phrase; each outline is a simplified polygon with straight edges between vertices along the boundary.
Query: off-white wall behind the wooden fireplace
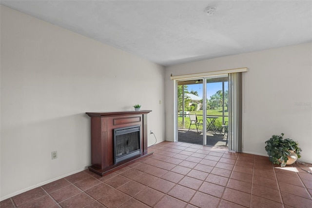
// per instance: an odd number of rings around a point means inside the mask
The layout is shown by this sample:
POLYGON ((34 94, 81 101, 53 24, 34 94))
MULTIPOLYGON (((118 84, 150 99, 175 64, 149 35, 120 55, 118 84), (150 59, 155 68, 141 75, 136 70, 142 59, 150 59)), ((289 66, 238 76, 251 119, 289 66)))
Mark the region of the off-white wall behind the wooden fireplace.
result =
POLYGON ((85 112, 141 104, 164 141, 162 66, 5 6, 0 14, 0 200, 91 165, 85 112))

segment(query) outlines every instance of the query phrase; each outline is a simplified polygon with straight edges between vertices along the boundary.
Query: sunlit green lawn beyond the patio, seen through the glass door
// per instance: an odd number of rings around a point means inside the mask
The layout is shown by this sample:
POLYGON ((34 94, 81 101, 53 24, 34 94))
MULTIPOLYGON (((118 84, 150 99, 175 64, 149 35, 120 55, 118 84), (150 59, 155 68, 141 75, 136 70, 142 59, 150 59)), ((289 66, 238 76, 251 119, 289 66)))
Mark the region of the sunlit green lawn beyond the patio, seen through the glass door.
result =
MULTIPOLYGON (((197 115, 197 119, 198 120, 202 120, 203 119, 203 112, 202 111, 191 111, 190 113, 196 113, 197 115)), ((222 108, 216 108, 216 109, 209 109, 207 110, 207 115, 208 116, 219 116, 219 118, 217 118, 215 120, 215 126, 217 127, 218 130, 222 129, 222 108)), ((225 109, 224 112, 224 121, 229 121, 229 117, 228 117, 228 111, 227 109, 225 109)), ((185 116, 184 117, 184 127, 185 128, 189 128, 190 126, 190 118, 189 116, 185 116)), ((183 128, 183 119, 182 117, 178 117, 178 128, 183 128)), ((191 129, 196 129, 195 125, 191 125, 191 129)), ((203 126, 199 126, 198 129, 203 129, 203 126)))

